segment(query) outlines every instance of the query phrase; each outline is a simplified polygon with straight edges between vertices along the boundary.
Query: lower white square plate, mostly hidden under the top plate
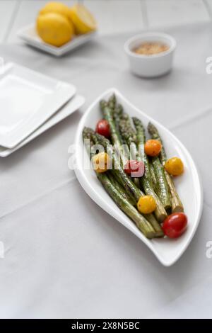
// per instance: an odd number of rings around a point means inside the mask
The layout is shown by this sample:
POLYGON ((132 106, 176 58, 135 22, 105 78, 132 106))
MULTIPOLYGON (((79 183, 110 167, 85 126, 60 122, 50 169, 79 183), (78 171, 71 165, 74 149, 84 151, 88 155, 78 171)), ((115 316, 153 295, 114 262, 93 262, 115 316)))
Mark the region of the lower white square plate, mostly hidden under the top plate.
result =
POLYGON ((49 128, 52 128, 52 126, 59 123, 61 120, 64 120, 66 117, 71 115, 71 113, 77 111, 81 106, 83 106, 83 103, 85 103, 85 98, 81 95, 76 95, 71 98, 71 101, 68 101, 65 106, 63 106, 57 113, 54 113, 51 118, 49 118, 44 124, 40 126, 40 128, 37 128, 35 132, 33 132, 31 135, 29 135, 25 140, 20 142, 19 145, 12 149, 8 149, 5 147, 0 147, 0 157, 7 157, 8 155, 12 154, 13 152, 16 152, 16 150, 20 149, 21 147, 25 146, 28 142, 32 141, 37 137, 38 135, 41 135, 43 132, 48 130, 49 128))

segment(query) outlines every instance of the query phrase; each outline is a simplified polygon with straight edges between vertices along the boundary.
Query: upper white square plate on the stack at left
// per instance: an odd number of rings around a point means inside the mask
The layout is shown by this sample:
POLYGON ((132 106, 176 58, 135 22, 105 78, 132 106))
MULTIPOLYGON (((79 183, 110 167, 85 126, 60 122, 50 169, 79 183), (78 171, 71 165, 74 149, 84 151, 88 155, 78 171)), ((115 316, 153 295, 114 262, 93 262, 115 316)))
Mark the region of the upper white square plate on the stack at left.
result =
POLYGON ((0 145, 12 148, 75 94, 73 85, 8 63, 0 73, 0 145))

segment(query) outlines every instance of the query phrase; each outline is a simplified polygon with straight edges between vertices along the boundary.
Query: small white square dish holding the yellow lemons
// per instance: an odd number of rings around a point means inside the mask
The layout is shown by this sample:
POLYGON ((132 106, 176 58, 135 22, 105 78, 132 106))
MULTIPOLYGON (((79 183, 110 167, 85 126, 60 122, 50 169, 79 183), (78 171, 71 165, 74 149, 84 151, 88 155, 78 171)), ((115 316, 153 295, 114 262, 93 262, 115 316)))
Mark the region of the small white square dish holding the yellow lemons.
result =
POLYGON ((79 47, 87 43, 95 36, 95 34, 96 34, 95 32, 86 33, 85 35, 80 35, 77 36, 76 38, 73 38, 73 40, 71 40, 69 43, 66 43, 60 47, 56 47, 42 41, 39 35, 37 35, 34 24, 22 28, 17 33, 18 37, 24 40, 25 43, 28 43, 33 47, 37 47, 42 51, 51 53, 52 55, 56 55, 57 57, 60 57, 61 55, 64 55, 65 53, 76 49, 76 47, 79 47))

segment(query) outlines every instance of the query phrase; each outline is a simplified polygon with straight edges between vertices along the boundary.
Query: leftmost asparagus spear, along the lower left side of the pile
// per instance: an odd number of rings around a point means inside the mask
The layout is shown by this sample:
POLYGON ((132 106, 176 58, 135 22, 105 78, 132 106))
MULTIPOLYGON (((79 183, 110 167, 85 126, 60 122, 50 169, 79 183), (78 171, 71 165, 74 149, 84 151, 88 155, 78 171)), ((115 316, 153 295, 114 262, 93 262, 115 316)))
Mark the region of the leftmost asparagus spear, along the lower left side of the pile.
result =
MULTIPOLYGON (((90 147, 95 144, 95 142, 92 140, 92 132, 88 128, 84 128, 83 130, 83 140, 90 139, 90 147)), ((87 148, 90 148, 87 147, 87 148)), ((91 149, 90 149, 91 152, 91 149)), ((93 157, 92 152, 90 153, 90 158, 93 157)), ((110 179, 107 177, 106 174, 98 174, 99 181, 102 183, 102 186, 104 186, 105 190, 109 195, 112 197, 114 202, 119 206, 119 208, 127 215, 131 220, 133 220, 139 230, 143 232, 143 235, 145 235, 147 238, 153 238, 155 237, 156 233, 155 230, 153 230, 153 227, 151 224, 144 218, 141 214, 139 214, 138 210, 134 208, 133 205, 129 203, 129 201, 122 196, 122 194, 117 190, 117 188, 112 184, 110 179)))

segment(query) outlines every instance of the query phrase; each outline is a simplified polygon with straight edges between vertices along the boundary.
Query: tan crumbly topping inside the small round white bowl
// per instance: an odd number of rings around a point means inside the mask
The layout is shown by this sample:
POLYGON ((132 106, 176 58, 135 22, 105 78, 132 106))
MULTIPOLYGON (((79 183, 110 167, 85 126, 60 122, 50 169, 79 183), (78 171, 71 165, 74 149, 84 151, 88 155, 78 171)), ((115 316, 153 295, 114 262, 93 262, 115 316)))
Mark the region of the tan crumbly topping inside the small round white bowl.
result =
POLYGON ((137 55, 157 55, 158 53, 169 50, 169 46, 160 42, 145 42, 134 48, 137 55))

